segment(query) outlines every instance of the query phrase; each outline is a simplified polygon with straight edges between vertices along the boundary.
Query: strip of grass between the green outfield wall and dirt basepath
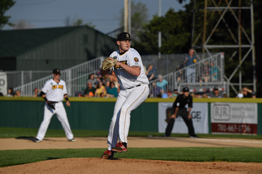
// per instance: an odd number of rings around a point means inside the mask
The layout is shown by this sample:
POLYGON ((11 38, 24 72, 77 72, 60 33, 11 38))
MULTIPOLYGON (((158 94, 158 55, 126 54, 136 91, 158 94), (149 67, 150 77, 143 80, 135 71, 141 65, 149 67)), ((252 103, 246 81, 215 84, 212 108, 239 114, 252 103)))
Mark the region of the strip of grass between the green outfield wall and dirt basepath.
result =
MULTIPOLYGON (((72 130, 74 137, 107 137, 108 131, 101 130, 72 130)), ((0 138, 35 137, 38 129, 0 127, 0 138)), ((200 138, 232 138, 232 139, 262 139, 262 135, 241 134, 197 134, 200 138)), ((158 132, 129 132, 129 137, 161 137, 158 132)), ((48 129, 45 137, 65 137, 64 130, 48 129)), ((185 133, 172 133, 171 137, 189 137, 185 133)))

